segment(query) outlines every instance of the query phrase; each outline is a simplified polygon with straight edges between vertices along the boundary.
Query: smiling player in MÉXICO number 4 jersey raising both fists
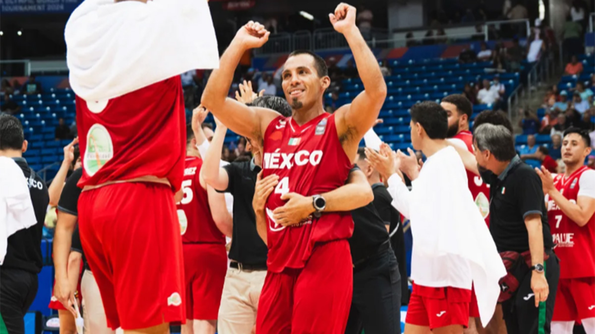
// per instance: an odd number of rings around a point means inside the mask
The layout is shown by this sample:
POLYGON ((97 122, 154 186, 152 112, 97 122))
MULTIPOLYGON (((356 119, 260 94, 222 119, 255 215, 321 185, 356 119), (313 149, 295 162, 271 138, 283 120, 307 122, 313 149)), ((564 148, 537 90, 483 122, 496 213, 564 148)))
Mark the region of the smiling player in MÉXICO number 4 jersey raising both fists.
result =
POLYGON ((359 141, 378 118, 386 84, 355 25, 355 8, 339 4, 329 17, 349 43, 364 84, 352 103, 332 115, 324 112, 330 78, 324 59, 309 51, 291 53, 281 74, 292 117, 227 99, 240 57, 268 39, 268 31, 253 22, 238 31, 202 95, 203 105, 231 130, 262 143, 263 178, 279 178, 266 207, 268 273, 256 333, 343 333, 349 315, 353 267, 346 239, 353 220, 342 211, 353 208, 327 212, 318 194, 345 184, 359 141), (317 209, 314 217, 292 226, 275 220, 275 209, 303 197, 317 209))

